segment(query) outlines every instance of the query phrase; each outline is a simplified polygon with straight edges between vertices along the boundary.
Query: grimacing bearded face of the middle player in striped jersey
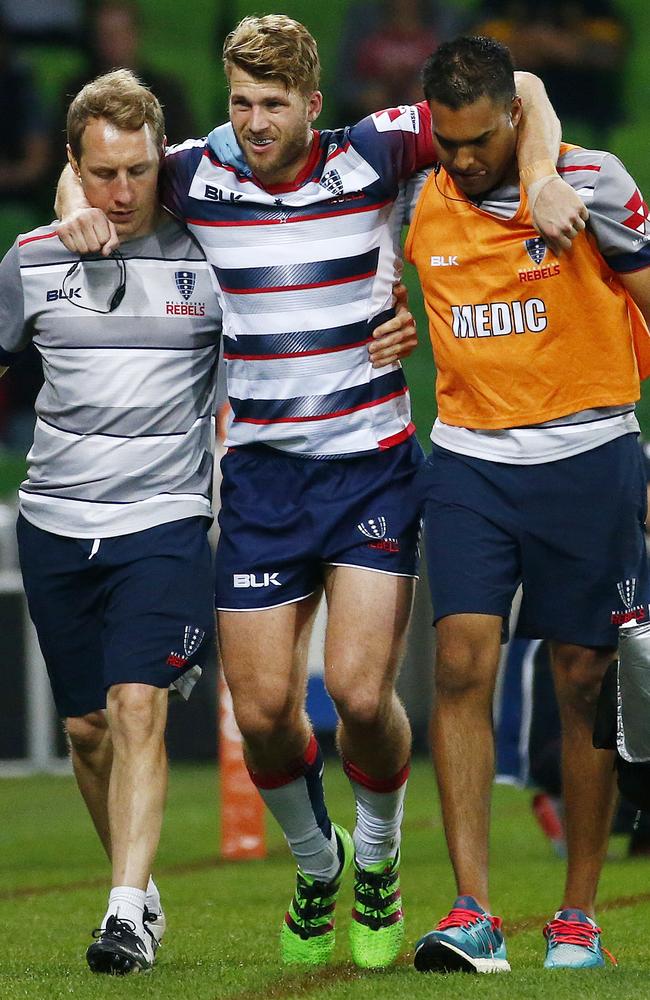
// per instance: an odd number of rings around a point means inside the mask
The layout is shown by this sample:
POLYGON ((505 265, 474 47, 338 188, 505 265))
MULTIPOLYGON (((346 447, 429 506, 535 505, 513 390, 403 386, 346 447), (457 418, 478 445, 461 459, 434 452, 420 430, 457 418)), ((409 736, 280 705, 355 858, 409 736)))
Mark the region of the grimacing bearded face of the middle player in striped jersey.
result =
POLYGON ((287 90, 280 80, 249 76, 237 66, 228 82, 230 120, 249 167, 263 184, 290 184, 309 158, 322 95, 287 90))

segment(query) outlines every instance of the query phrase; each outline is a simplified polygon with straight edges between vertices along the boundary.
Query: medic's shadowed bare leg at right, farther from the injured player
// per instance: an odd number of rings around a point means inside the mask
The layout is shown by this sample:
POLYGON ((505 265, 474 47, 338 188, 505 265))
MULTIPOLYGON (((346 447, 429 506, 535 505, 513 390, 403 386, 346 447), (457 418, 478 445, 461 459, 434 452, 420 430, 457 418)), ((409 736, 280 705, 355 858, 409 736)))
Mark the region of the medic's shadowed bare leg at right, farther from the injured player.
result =
POLYGON ((561 909, 594 916, 615 802, 614 754, 594 750, 596 701, 611 649, 553 643, 553 675, 562 720, 562 789, 567 878, 561 909))

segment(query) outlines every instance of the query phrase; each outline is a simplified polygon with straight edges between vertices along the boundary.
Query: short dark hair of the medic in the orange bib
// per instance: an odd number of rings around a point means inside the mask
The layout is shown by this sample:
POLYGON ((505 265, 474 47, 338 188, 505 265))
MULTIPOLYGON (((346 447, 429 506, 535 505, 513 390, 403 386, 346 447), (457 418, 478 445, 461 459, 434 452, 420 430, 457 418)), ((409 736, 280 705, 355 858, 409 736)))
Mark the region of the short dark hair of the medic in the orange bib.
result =
POLYGON ((445 42, 422 70, 424 96, 452 111, 480 97, 509 104, 516 94, 510 50, 495 38, 463 36, 445 42))

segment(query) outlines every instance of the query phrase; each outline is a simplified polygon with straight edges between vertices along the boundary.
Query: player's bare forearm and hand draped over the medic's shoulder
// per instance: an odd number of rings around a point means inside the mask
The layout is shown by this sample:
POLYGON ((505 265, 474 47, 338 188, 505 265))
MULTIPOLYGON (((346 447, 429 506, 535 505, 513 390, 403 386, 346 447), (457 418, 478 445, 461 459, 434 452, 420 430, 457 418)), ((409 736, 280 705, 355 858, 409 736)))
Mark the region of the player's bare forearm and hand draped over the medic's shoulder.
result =
POLYGON ((519 123, 519 176, 537 231, 551 250, 560 253, 585 228, 589 212, 556 169, 561 127, 546 88, 532 73, 515 73, 523 114, 519 123))

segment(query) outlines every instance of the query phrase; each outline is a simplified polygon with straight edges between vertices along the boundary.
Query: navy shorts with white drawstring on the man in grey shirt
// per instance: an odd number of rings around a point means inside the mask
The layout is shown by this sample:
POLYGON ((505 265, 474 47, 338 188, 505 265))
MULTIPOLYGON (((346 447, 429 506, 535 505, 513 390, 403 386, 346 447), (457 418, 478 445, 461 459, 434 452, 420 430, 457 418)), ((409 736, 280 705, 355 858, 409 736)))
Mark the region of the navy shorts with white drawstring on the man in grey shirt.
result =
POLYGON ((200 662, 214 629, 209 520, 66 538, 18 518, 18 549, 57 711, 106 706, 113 684, 165 688, 200 662))

